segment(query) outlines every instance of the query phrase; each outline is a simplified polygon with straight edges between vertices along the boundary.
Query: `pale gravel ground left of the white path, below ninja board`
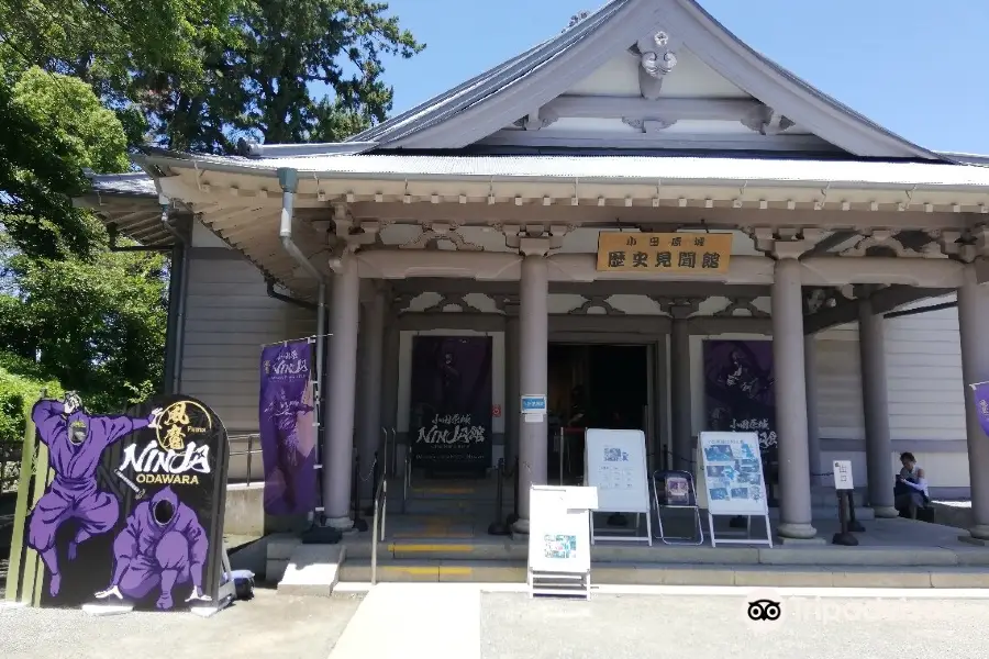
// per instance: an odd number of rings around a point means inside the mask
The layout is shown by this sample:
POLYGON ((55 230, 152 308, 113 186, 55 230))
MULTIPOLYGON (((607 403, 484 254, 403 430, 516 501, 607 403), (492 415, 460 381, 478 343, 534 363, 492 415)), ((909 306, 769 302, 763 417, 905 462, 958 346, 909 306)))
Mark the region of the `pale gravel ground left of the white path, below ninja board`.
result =
POLYGON ((0 657, 326 659, 359 604, 358 596, 297 597, 258 589, 254 600, 210 618, 0 607, 0 657))

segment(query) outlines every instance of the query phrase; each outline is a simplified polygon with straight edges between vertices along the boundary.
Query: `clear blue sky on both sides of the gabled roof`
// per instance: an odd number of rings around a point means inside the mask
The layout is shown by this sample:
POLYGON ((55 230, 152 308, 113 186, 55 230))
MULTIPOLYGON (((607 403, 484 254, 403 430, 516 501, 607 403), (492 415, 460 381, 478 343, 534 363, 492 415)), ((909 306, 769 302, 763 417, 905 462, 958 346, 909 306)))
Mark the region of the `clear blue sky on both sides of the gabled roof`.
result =
MULTIPOLYGON (((390 0, 425 42, 388 60, 393 113, 558 33, 604 0, 390 0)), ((989 2, 701 0, 729 30, 869 119, 927 148, 989 154, 989 2)))

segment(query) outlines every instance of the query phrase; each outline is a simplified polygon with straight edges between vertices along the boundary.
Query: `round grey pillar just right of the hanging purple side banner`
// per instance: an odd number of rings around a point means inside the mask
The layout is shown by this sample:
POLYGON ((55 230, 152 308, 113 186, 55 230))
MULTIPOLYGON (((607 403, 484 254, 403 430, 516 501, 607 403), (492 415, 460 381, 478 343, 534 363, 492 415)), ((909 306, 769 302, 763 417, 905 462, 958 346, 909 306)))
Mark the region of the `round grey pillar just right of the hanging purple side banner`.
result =
POLYGON ((344 253, 333 276, 330 314, 327 415, 323 439, 323 509, 326 523, 351 528, 351 473, 354 468, 354 401, 357 383, 357 323, 360 314, 357 259, 344 253))

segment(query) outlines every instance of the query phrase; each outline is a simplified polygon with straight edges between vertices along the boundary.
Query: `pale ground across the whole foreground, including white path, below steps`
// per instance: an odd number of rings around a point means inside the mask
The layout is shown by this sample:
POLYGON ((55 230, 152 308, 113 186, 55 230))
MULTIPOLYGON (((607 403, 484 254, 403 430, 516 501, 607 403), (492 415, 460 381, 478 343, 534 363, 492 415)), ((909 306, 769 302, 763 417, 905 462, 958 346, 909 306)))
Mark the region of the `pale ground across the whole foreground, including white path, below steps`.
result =
POLYGON ((0 657, 34 659, 981 659, 989 591, 626 588, 587 601, 508 587, 382 584, 359 596, 258 591, 203 619, 4 608, 0 657), (754 622, 748 603, 779 603, 754 622), (338 639, 338 640, 337 640, 338 639))

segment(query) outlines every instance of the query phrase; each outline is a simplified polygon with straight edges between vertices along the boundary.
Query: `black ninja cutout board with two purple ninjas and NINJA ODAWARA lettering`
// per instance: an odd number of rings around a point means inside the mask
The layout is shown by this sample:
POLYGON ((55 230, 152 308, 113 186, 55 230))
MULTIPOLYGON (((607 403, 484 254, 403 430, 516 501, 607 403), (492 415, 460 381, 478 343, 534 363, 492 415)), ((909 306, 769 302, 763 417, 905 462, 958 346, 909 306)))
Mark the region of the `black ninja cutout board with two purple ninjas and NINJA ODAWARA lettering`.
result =
POLYGON ((10 574, 21 599, 159 611, 215 602, 230 454, 220 418, 182 395, 89 414, 74 393, 38 401, 31 416, 48 470, 43 489, 37 465, 19 493, 30 496, 22 569, 10 574))

